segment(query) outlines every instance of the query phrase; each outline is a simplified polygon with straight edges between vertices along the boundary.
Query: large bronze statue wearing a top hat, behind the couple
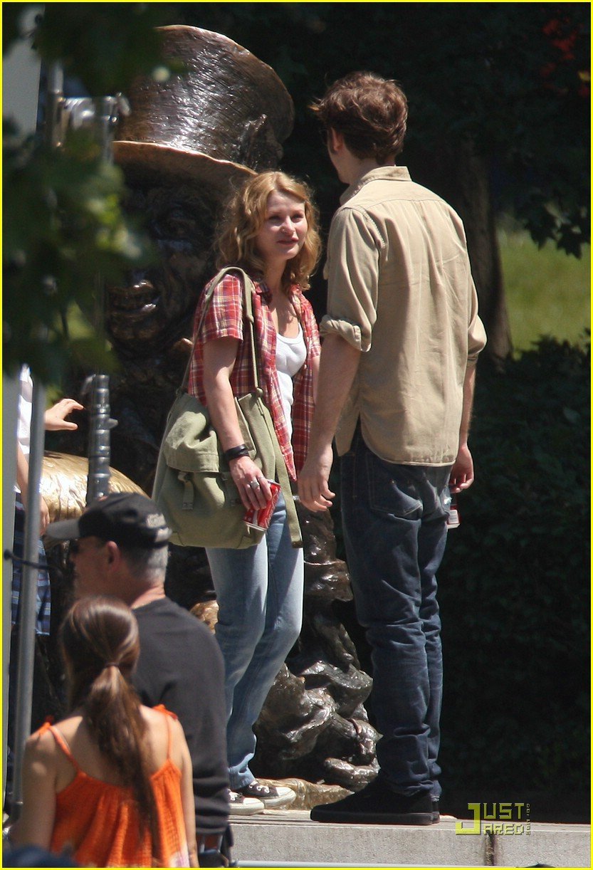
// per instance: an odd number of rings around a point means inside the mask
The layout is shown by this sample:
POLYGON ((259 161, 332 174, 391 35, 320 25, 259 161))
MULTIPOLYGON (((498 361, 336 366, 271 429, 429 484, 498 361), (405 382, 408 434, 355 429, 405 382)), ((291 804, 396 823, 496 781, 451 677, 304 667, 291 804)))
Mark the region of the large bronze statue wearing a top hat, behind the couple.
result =
MULTIPOLYGON (((273 168, 293 124, 293 106, 274 70, 217 33, 163 28, 170 57, 185 71, 139 81, 127 95, 114 157, 147 218, 158 262, 107 293, 106 327, 122 371, 111 379, 111 462, 150 492, 167 413, 190 352, 197 298, 213 274, 217 211, 232 184, 273 168)), ((257 772, 300 776, 351 789, 376 775, 377 734, 363 702, 371 680, 331 612, 351 598, 336 559, 329 514, 302 510, 305 619, 297 649, 259 720, 257 772)), ((214 598, 202 550, 171 547, 166 590, 188 609, 214 598)), ((211 619, 211 615, 210 615, 211 619)), ((317 802, 319 797, 316 798, 317 802)))

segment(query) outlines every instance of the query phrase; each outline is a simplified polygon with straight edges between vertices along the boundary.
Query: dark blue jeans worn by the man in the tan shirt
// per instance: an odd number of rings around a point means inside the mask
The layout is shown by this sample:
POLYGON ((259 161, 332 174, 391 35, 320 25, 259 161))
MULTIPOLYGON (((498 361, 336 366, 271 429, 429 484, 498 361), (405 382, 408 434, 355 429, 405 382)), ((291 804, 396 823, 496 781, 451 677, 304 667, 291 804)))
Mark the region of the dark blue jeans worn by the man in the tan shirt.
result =
POLYGON ((356 430, 342 457, 342 516, 356 616, 373 663, 379 774, 393 791, 438 798, 443 695, 436 570, 450 465, 394 465, 356 430))

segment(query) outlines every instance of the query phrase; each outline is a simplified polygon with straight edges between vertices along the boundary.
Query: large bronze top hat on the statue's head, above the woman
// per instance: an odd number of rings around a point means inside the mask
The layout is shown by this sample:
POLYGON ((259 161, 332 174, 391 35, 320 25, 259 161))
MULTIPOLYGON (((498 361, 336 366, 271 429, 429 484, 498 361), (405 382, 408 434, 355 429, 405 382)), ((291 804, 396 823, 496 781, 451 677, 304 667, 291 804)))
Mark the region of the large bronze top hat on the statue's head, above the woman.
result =
POLYGON ((275 169, 290 135, 290 94, 268 64, 229 37, 183 24, 158 28, 165 58, 183 62, 165 81, 138 79, 126 93, 113 144, 126 176, 226 190, 275 169))

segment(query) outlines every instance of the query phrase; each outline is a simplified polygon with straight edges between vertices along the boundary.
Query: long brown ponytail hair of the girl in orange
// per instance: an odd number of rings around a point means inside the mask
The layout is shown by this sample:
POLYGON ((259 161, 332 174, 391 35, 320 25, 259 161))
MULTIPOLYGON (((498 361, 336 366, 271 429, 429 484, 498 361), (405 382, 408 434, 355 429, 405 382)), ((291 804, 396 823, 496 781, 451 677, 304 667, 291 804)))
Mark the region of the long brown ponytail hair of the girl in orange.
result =
POLYGON ((70 711, 81 711, 100 753, 117 768, 123 785, 131 787, 141 829, 150 829, 157 853, 157 810, 144 750, 146 725, 129 682, 140 653, 136 617, 116 598, 80 599, 66 614, 59 640, 70 677, 70 711))

